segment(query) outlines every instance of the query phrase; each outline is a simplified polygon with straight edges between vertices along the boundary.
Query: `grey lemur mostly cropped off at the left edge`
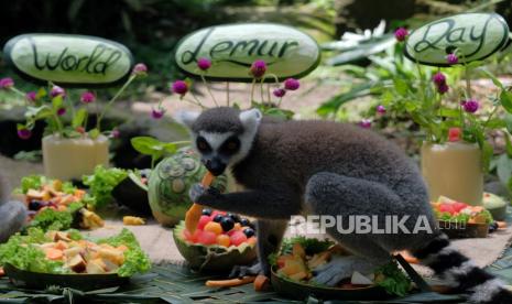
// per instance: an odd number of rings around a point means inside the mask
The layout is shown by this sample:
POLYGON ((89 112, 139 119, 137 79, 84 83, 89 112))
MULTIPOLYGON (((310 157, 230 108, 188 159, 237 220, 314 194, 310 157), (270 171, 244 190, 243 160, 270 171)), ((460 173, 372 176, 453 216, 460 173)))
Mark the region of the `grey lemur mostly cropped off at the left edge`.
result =
POLYGON ((0 175, 0 243, 21 229, 26 220, 26 208, 21 202, 9 200, 7 181, 0 175))

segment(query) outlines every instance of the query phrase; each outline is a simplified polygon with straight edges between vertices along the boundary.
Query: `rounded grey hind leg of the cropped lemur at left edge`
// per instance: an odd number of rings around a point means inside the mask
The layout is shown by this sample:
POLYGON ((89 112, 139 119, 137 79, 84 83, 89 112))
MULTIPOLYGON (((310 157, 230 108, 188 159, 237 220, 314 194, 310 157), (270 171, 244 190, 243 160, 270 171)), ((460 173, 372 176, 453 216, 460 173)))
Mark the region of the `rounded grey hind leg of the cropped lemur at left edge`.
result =
POLYGON ((18 232, 26 220, 26 208, 21 202, 0 205, 0 243, 18 232))

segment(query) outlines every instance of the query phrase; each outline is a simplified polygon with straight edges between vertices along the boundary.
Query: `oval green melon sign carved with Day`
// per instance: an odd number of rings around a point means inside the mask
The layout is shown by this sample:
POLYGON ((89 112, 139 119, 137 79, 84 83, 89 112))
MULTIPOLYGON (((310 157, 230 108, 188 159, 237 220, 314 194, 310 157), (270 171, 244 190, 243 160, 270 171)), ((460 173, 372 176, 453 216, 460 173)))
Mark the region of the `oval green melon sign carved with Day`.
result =
POLYGON ((481 61, 500 51, 509 26, 497 13, 465 13, 431 22, 406 41, 405 56, 414 62, 448 66, 446 55, 457 50, 460 62, 481 61))

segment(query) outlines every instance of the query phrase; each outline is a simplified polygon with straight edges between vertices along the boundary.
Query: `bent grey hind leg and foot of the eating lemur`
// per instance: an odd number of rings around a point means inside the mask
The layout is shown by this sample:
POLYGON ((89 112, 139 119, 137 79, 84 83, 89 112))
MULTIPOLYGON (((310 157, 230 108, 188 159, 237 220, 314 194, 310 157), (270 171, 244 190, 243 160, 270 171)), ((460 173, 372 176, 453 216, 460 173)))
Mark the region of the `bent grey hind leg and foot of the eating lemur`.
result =
POLYGON ((335 227, 326 227, 326 231, 355 254, 336 259, 319 269, 315 280, 336 285, 356 270, 364 273, 388 263, 391 260, 390 251, 396 247, 396 236, 374 235, 372 231, 357 234, 356 217, 368 216, 371 220, 378 220, 379 227, 384 227, 386 215, 406 214, 402 200, 389 187, 371 181, 327 172, 312 176, 305 192, 306 206, 315 215, 331 216, 341 221, 335 227))

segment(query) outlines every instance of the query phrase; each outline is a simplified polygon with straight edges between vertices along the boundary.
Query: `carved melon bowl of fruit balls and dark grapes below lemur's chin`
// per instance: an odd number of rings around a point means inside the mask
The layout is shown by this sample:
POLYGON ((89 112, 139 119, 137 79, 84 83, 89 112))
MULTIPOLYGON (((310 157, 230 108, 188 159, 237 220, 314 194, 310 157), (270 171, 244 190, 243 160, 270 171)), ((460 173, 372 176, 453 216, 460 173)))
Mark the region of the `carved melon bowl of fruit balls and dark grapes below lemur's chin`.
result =
POLYGON ((193 232, 186 229, 185 221, 181 221, 173 236, 178 251, 193 269, 229 272, 233 265, 254 262, 254 229, 247 218, 204 208, 193 232))

